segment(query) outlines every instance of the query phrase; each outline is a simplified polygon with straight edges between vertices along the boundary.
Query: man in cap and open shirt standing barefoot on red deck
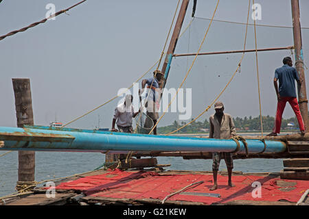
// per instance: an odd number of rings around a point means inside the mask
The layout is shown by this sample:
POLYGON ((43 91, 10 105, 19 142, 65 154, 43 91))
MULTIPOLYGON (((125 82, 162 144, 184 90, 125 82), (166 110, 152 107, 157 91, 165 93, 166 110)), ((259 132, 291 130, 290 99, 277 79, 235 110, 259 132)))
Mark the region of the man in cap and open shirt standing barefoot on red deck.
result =
MULTIPOLYGON (((233 123, 233 118, 229 114, 223 113, 225 107, 222 102, 217 102, 214 105, 216 113, 211 115, 209 118, 209 138, 218 139, 229 139, 236 136, 236 127, 233 123)), ((232 153, 222 152, 222 153, 212 153, 212 172, 214 175, 214 186, 210 190, 216 190, 218 188, 217 175, 220 165, 220 159, 225 159, 225 164, 227 164, 227 173, 229 175, 228 185, 233 187, 231 182, 231 173, 233 169, 233 157, 232 153)))

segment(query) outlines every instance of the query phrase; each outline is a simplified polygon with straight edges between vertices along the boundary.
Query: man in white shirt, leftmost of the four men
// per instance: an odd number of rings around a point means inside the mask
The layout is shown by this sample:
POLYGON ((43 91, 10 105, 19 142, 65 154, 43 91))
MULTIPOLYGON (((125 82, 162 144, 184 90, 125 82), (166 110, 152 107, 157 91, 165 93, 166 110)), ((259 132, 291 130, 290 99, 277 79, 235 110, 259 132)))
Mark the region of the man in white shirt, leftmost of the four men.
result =
POLYGON ((115 129, 115 124, 120 132, 133 133, 132 118, 135 118, 139 112, 134 113, 134 108, 132 105, 133 96, 131 94, 126 95, 124 103, 117 105, 112 123, 112 130, 115 129))

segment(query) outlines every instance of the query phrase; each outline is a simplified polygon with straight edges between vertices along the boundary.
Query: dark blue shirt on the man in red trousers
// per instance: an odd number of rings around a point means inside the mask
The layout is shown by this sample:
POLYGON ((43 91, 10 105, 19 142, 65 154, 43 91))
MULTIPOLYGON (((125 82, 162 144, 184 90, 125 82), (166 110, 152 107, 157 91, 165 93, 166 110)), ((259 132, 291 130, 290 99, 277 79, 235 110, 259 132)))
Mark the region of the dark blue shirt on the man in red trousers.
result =
POLYGON ((299 80, 297 70, 285 64, 275 70, 275 78, 279 79, 280 96, 296 97, 295 80, 299 80))

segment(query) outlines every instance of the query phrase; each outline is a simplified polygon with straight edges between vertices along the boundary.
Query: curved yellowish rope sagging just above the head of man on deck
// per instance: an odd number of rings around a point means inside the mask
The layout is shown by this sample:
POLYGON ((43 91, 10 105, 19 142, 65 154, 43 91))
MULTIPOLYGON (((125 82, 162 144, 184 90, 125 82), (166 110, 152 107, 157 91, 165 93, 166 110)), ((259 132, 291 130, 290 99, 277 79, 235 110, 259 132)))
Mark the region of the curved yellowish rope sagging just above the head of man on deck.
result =
MULTIPOLYGON (((248 15, 247 15, 247 24, 249 23, 249 14, 250 14, 250 5, 251 5, 251 0, 249 0, 249 7, 248 7, 248 15)), ((246 26, 246 33, 244 35, 244 50, 246 49, 246 44, 247 44, 247 32, 248 32, 248 25, 246 26)), ((198 54, 196 54, 198 55, 198 54)), ((222 91, 220 92, 220 94, 218 94, 218 96, 216 97, 216 99, 214 99, 214 101, 212 101, 212 103, 203 111, 201 112, 201 114, 199 114, 198 116, 196 116, 196 118, 194 118, 193 120, 190 121, 190 123, 187 123, 185 125, 183 125, 182 127, 179 127, 178 129, 165 134, 165 136, 169 136, 172 133, 175 133, 176 131, 179 131, 181 129, 183 129, 184 127, 187 127, 187 125, 190 125, 191 123, 193 123, 195 120, 197 120, 198 118, 200 118, 203 114, 205 114, 205 112, 207 112, 210 107, 212 105, 214 105, 214 103, 216 103, 216 101, 219 99, 219 97, 221 96, 221 94, 225 91, 225 89, 227 88, 227 86, 229 86, 229 83, 231 83, 231 81, 233 80, 233 77, 236 75, 236 73, 238 72, 238 69, 240 68, 240 64, 242 63, 242 59, 244 58, 244 52, 242 53, 242 57, 240 59, 240 62, 238 63, 238 68, 236 69, 236 71, 233 73, 231 79, 229 79, 229 82, 227 82, 227 85, 225 86, 225 88, 222 89, 222 91)))

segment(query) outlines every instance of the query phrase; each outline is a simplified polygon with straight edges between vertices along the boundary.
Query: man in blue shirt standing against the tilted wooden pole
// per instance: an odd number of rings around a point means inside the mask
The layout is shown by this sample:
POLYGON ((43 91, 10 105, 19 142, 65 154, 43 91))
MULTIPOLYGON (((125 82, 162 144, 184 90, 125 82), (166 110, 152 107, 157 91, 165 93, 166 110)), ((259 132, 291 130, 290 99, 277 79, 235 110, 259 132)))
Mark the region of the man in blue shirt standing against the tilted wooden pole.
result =
MULTIPOLYGON (((139 95, 144 92, 144 88, 147 84, 147 88, 150 92, 146 95, 146 109, 147 115, 152 119, 153 124, 156 125, 157 119, 159 118, 159 107, 160 107, 160 94, 161 89, 159 88, 159 83, 163 78, 163 73, 160 70, 155 70, 153 72, 153 77, 149 79, 144 79, 141 81, 141 90, 139 90, 139 95), (149 96, 148 96, 149 93, 149 96)), ((157 135, 157 127, 153 130, 153 133, 157 135)))

